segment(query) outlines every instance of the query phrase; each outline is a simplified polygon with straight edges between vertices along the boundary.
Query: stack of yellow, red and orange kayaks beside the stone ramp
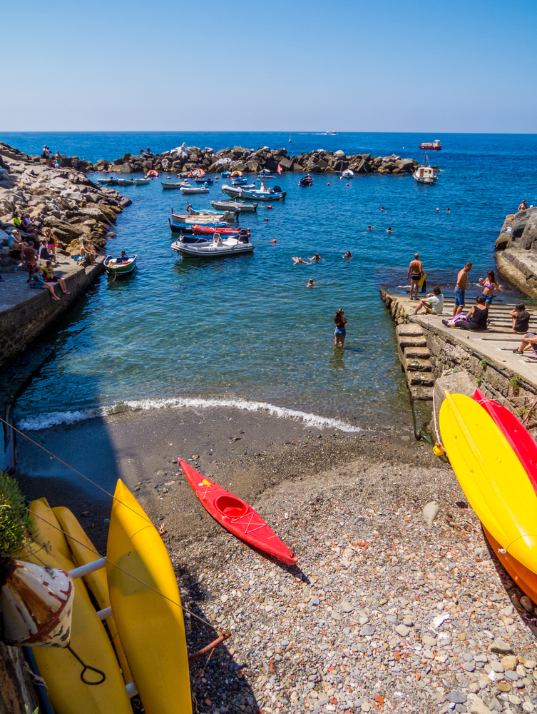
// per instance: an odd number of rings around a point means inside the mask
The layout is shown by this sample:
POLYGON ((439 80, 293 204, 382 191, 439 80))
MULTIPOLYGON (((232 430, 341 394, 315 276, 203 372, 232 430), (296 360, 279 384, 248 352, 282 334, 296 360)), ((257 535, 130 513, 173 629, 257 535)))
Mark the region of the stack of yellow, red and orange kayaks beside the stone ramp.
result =
POLYGON ((521 431, 522 425, 518 421, 515 425, 505 412, 481 393, 472 399, 446 392, 440 431, 451 466, 489 543, 520 588, 535 600, 537 493, 531 481, 535 472, 530 476, 526 468, 533 468, 536 449, 528 441, 531 436, 521 431))

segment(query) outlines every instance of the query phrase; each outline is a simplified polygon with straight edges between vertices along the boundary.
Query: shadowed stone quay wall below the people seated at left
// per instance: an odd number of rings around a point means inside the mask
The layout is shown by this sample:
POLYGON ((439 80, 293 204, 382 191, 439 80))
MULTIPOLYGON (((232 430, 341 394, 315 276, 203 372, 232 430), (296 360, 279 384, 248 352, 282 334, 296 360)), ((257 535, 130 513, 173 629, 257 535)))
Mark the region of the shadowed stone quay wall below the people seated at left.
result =
POLYGON ((53 300, 47 290, 36 290, 28 300, 0 313, 0 363, 26 347, 65 315, 73 302, 91 288, 103 273, 103 259, 100 256, 95 266, 81 268, 67 276, 66 286, 71 295, 62 295, 59 302, 53 300))

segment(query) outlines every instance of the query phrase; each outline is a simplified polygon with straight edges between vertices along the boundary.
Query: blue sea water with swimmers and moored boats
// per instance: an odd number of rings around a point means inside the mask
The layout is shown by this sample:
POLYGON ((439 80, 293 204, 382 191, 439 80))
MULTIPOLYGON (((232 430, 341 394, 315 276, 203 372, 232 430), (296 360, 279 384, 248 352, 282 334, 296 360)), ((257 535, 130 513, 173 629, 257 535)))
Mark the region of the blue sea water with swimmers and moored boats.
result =
MULTIPOLYGON (((437 138, 444 148, 429 153, 441 169, 435 186, 411 176, 357 176, 347 185, 337 175, 316 174, 310 188, 298 188, 295 174, 278 176, 287 200, 272 210, 260 203, 256 214, 241 218, 256 248, 237 258, 178 257, 170 249, 168 216, 172 207, 184 210, 185 198, 163 191, 160 181, 122 188, 133 205, 118 219, 108 248, 138 253, 138 272, 121 282, 103 276, 46 337, 53 354, 19 397, 19 423, 36 428, 126 401, 159 406, 193 398, 270 403, 340 418, 349 428, 408 423, 394 329, 379 286, 404 289, 416 251, 429 288, 440 283, 452 290, 467 260, 474 263, 473 283, 495 268, 493 243, 506 213, 522 198, 537 203, 537 136, 292 134, 291 143, 289 134, 262 133, 0 136, 29 153, 41 153, 46 143, 90 161, 134 154, 140 146, 164 151, 183 141, 215 151, 267 145, 294 154, 342 149, 421 159, 419 142, 437 138), (342 257, 347 250, 351 261, 342 257), (292 256, 315 252, 322 262, 293 265, 292 256), (314 289, 305 287, 309 278, 314 289), (349 320, 344 351, 333 346, 339 307, 349 320)), ((223 197, 222 183, 194 205, 223 197)))

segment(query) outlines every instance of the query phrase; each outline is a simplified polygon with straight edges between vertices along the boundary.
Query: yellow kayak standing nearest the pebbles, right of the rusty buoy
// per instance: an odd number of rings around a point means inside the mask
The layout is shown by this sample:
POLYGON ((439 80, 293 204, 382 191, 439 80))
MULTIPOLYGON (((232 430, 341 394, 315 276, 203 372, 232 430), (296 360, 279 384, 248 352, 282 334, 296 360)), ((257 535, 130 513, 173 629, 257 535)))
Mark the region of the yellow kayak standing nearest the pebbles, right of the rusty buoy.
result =
POLYGON ((145 712, 191 714, 185 625, 173 566, 155 526, 121 480, 106 556, 112 610, 145 712))

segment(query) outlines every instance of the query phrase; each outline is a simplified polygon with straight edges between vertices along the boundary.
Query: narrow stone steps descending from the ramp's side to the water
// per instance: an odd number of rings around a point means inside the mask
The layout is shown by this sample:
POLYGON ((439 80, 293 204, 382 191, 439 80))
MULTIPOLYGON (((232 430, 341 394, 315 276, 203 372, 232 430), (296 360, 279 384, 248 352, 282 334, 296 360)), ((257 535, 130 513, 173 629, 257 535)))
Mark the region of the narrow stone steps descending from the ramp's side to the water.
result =
POLYGON ((429 401, 433 398, 434 376, 431 353, 423 328, 414 323, 397 325, 399 360, 406 375, 406 382, 413 401, 429 401))

